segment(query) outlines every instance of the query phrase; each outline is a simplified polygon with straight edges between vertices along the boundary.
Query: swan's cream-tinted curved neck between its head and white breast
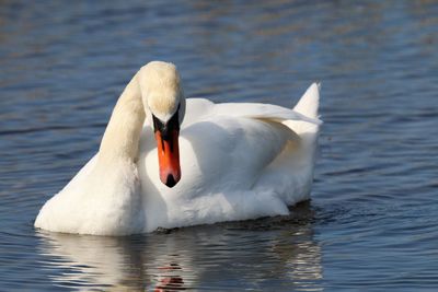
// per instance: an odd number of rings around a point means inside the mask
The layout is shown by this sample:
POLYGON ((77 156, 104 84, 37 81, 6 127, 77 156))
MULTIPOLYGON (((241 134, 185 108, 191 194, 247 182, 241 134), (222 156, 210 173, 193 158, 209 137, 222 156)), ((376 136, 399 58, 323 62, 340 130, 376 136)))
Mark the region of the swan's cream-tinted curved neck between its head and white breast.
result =
POLYGON ((137 79, 138 73, 126 86, 113 109, 99 150, 100 160, 137 159, 145 122, 145 109, 137 79))

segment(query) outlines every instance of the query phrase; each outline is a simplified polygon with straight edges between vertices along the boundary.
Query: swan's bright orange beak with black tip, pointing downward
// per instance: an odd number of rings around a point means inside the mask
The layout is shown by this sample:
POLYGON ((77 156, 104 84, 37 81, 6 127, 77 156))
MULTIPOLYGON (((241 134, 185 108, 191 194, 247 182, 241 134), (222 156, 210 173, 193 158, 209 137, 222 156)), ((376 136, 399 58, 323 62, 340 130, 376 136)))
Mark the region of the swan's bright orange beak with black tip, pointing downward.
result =
POLYGON ((168 137, 155 131, 160 179, 170 188, 181 179, 178 136, 176 129, 171 130, 168 137))

